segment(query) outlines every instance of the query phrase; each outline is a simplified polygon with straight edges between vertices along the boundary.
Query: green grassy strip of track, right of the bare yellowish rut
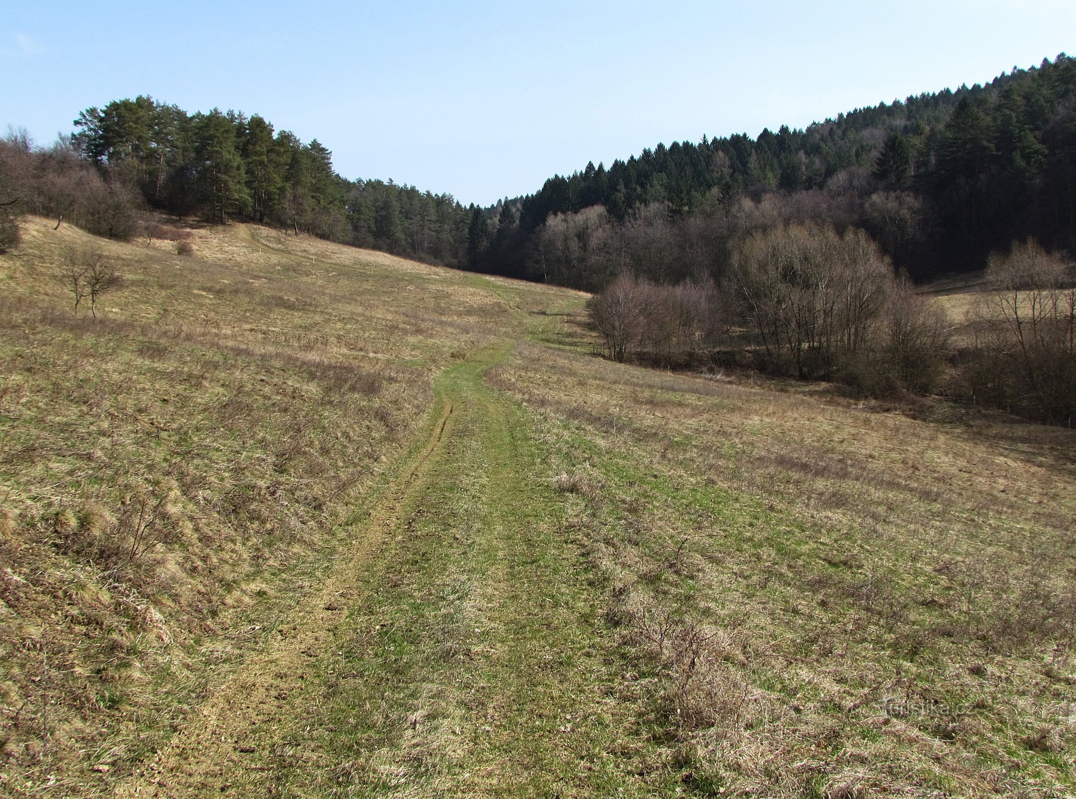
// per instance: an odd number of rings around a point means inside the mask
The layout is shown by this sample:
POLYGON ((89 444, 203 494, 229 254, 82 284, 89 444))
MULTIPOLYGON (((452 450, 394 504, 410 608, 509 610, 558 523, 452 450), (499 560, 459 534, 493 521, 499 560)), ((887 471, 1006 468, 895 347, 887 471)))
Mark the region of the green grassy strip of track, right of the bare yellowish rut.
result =
MULTIPOLYGON (((454 369, 451 440, 318 661, 287 741, 246 776, 280 797, 651 796, 653 746, 524 412, 454 369)), ((661 777, 657 777, 660 782, 661 777)))

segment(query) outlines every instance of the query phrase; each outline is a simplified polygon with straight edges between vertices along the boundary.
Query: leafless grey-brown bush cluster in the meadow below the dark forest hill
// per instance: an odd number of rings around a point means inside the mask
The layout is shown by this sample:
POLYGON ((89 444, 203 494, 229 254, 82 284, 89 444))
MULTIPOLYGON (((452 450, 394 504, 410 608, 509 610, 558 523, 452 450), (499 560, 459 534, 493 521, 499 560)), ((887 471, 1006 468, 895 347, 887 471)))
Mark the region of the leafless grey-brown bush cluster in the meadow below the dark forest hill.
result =
POLYGON ((690 362, 720 346, 739 361, 863 393, 930 391, 944 373, 944 311, 897 279, 863 232, 779 225, 744 240, 721 286, 622 275, 590 304, 606 353, 690 362))

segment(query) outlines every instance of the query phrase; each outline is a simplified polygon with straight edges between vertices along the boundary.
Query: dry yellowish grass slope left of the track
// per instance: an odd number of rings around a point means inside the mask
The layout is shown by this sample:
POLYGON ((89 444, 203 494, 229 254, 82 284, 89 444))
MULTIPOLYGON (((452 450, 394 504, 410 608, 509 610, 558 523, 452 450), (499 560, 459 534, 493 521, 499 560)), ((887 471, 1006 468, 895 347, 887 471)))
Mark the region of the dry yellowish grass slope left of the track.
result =
POLYGON ((0 793, 85 791, 152 751, 313 589, 434 376, 570 296, 522 286, 513 309, 253 226, 188 240, 30 218, 0 257, 0 793), (124 275, 97 323, 56 279, 71 247, 124 275))

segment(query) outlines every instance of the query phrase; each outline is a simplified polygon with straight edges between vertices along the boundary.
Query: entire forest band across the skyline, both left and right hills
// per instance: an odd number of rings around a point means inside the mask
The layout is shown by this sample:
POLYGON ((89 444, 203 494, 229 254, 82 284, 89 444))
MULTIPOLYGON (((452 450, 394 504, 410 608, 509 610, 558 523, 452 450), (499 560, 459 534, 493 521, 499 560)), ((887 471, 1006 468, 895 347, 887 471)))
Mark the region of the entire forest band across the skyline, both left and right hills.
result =
POLYGON ((721 280, 746 238, 789 224, 862 228, 918 280, 981 269, 1028 237, 1076 246, 1076 64, 1065 54, 805 130, 657 144, 490 208, 344 179, 316 139, 257 114, 137 97, 87 109, 74 126, 49 148, 17 131, 0 143, 9 216, 52 214, 118 238, 144 209, 246 219, 591 291, 623 272, 721 280))

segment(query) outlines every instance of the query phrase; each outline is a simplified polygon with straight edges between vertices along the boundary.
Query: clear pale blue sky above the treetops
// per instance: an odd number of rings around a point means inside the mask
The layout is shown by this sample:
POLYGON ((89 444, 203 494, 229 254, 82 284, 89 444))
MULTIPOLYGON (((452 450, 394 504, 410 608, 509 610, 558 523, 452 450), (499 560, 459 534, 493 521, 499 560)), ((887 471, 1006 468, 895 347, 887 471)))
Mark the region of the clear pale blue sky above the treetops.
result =
POLYGON ((803 127, 1076 50, 1076 0, 0 0, 0 126, 148 94, 259 113, 464 202, 645 146, 803 127))

